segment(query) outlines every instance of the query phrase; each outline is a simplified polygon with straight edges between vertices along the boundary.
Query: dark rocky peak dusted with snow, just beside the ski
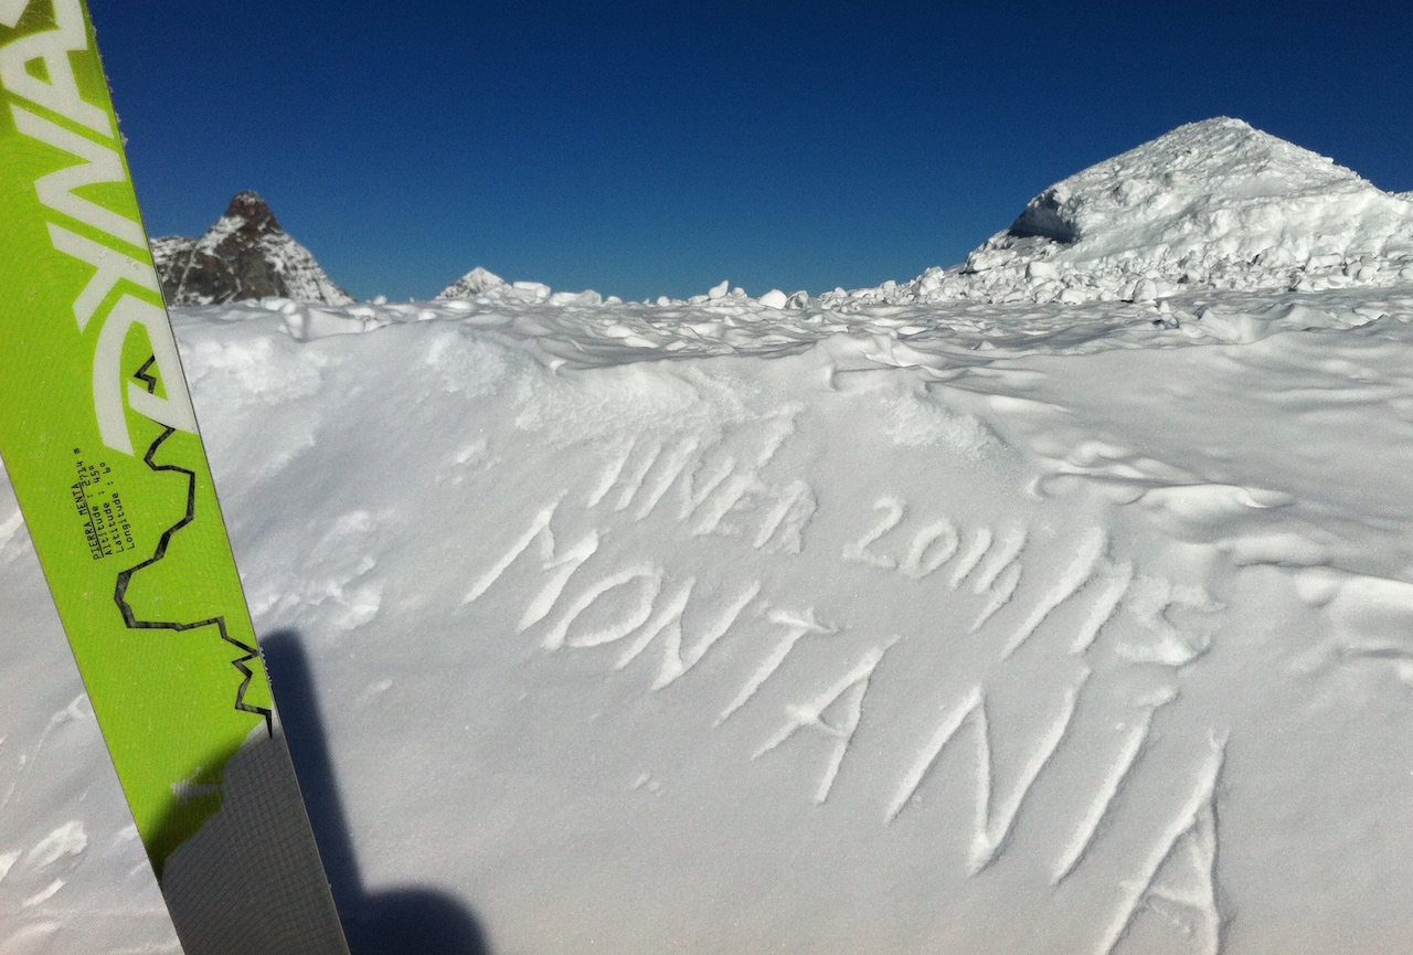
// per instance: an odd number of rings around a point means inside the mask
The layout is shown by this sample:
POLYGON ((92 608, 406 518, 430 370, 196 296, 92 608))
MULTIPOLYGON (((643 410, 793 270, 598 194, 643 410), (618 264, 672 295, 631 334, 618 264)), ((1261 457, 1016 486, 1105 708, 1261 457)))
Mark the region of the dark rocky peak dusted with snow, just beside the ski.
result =
POLYGON ((219 305, 267 297, 348 305, 308 249, 254 192, 240 192, 199 239, 154 239, 153 260, 168 305, 219 305))

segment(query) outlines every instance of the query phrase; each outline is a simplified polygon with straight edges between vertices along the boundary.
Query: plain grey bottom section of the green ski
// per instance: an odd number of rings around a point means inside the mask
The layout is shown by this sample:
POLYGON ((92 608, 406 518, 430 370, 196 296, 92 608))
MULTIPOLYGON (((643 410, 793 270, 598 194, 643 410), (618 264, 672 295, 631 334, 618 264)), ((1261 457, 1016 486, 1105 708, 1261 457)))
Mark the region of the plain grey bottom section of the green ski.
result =
POLYGON ((232 757, 222 793, 162 870, 185 955, 348 955, 278 722, 232 757))

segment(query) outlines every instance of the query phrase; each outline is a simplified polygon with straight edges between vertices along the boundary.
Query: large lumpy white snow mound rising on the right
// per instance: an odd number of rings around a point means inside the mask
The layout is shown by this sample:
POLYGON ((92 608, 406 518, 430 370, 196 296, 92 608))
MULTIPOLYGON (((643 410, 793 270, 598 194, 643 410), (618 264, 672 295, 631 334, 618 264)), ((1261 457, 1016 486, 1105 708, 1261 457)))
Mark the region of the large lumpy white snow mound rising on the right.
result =
POLYGON ((962 266, 875 298, 1153 301, 1413 278, 1413 201, 1238 119, 1188 123, 1031 199, 962 266))

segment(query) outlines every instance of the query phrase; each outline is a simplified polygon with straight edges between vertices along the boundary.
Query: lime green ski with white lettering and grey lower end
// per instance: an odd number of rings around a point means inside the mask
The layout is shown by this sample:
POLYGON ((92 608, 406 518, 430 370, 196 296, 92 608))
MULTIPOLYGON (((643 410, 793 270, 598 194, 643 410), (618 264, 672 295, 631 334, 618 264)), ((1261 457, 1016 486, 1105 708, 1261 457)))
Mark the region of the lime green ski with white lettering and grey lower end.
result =
POLYGON ((0 456, 187 955, 343 955, 83 0, 0 0, 0 456))

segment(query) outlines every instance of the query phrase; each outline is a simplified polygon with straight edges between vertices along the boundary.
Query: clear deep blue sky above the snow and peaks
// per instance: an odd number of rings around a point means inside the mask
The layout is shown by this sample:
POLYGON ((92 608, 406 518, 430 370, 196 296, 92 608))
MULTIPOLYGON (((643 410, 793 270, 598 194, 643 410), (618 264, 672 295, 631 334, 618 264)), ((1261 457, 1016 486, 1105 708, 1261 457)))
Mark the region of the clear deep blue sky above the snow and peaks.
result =
POLYGON ((1413 4, 90 0, 154 235, 239 189, 357 297, 907 280, 1239 116, 1413 189, 1413 4))

